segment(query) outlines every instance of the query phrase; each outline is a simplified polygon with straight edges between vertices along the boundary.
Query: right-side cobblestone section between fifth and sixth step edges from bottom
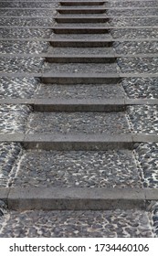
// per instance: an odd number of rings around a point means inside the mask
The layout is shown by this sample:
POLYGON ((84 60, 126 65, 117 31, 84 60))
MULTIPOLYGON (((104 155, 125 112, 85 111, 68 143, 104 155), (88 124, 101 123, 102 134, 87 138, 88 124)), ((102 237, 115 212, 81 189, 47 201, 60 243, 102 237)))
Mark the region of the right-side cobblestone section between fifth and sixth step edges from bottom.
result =
POLYGON ((115 42, 113 47, 118 54, 158 53, 158 42, 115 42))

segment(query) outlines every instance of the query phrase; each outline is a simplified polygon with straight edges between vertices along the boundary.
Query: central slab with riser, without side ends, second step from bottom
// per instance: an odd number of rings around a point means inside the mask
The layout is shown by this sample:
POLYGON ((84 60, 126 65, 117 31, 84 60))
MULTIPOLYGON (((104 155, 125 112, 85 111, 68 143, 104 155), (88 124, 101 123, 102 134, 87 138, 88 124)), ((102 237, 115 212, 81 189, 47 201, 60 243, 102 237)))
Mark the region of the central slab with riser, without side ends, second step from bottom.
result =
POLYGON ((108 150, 131 149, 132 135, 63 135, 60 133, 26 134, 26 149, 43 150, 108 150))

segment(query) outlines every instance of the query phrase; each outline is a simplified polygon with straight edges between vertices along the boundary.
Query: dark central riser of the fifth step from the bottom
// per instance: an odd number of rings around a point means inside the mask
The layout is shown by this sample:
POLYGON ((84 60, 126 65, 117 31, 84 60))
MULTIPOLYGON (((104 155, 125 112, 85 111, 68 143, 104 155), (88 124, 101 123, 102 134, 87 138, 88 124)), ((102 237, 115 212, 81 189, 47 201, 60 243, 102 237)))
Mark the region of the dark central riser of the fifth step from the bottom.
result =
POLYGON ((69 57, 69 58, 45 58, 49 63, 115 63, 116 58, 89 58, 89 57, 69 57))

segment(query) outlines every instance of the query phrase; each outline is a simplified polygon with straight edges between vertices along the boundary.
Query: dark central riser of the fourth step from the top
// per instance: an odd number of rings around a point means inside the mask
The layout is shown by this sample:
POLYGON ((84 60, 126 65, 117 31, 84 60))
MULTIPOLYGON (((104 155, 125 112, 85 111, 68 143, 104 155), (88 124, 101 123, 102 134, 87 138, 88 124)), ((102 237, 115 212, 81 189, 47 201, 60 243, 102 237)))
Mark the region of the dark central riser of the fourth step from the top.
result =
POLYGON ((107 34, 107 28, 53 28, 56 34, 107 34))

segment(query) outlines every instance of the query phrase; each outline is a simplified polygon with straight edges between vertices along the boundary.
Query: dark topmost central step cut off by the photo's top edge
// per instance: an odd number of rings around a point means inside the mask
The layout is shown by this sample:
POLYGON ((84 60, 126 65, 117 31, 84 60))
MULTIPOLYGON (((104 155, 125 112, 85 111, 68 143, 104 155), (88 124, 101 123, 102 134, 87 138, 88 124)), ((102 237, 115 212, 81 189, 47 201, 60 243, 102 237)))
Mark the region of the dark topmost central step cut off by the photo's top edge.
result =
POLYGON ((105 1, 60 1, 60 5, 104 5, 105 1))

